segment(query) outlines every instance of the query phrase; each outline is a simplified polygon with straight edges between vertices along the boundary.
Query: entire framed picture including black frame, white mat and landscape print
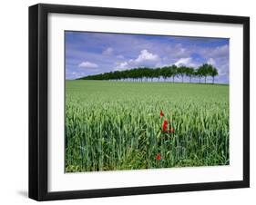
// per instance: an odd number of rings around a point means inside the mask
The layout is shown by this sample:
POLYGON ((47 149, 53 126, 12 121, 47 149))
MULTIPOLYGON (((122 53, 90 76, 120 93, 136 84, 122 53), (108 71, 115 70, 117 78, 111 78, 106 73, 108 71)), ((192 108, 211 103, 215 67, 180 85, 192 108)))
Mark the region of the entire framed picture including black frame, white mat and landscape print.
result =
POLYGON ((250 17, 38 4, 28 39, 29 198, 250 187, 250 17))

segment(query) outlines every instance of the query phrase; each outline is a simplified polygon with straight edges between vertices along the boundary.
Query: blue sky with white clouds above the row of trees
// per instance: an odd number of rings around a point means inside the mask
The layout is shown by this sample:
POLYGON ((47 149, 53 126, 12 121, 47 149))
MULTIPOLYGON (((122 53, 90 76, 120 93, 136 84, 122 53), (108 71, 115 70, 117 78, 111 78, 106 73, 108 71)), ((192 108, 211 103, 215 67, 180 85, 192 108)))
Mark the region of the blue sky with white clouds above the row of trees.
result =
POLYGON ((65 35, 67 79, 141 66, 211 63, 219 71, 215 82, 229 83, 229 39, 69 31, 65 35))

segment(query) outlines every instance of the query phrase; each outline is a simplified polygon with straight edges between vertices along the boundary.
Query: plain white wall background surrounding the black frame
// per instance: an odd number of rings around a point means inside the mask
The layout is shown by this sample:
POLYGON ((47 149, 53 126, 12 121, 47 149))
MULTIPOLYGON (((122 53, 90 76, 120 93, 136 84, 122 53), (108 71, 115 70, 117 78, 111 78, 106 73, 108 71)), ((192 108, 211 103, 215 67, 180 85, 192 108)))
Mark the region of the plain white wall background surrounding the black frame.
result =
MULTIPOLYGON (((27 198, 28 152, 28 9, 38 1, 3 1, 0 12, 0 203, 35 204, 27 198)), ((62 200, 50 204, 250 204, 256 193, 256 13, 251 0, 58 0, 41 3, 93 5, 216 15, 251 16, 251 189, 209 190, 89 200, 62 200), (253 126, 254 125, 254 126, 253 126)))

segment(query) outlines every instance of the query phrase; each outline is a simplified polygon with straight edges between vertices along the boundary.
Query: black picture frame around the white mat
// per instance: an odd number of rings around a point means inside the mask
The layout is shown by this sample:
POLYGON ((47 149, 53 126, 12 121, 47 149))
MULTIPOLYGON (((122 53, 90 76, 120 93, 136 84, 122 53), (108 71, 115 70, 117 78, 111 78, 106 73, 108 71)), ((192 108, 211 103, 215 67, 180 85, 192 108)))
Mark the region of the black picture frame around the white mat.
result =
POLYGON ((76 5, 29 7, 29 198, 67 200, 250 186, 250 18, 76 5), (101 15, 243 25, 243 180, 100 190, 47 190, 47 16, 101 15))

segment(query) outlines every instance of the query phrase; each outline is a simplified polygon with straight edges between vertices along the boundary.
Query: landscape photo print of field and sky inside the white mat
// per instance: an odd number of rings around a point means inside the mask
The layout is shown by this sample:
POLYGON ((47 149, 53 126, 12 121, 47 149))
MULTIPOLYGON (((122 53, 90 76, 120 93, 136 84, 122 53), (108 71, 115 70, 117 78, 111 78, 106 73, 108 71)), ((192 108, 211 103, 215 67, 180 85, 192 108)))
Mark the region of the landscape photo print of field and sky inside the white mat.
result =
POLYGON ((229 165, 229 39, 65 32, 65 171, 229 165))

